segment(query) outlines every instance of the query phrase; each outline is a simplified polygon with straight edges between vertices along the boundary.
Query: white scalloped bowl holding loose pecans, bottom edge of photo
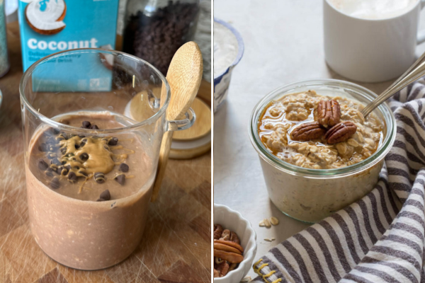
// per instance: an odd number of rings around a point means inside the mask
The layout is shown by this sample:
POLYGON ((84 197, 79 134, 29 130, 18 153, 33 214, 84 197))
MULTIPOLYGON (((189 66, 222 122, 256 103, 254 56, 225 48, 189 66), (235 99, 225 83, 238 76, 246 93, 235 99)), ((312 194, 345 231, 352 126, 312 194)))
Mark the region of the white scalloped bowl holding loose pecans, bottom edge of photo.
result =
POLYGON ((225 277, 214 278, 214 283, 240 282, 251 269, 256 254, 256 233, 248 220, 225 205, 214 204, 214 224, 220 224, 224 229, 237 233, 244 248, 244 260, 237 269, 227 273, 225 277))

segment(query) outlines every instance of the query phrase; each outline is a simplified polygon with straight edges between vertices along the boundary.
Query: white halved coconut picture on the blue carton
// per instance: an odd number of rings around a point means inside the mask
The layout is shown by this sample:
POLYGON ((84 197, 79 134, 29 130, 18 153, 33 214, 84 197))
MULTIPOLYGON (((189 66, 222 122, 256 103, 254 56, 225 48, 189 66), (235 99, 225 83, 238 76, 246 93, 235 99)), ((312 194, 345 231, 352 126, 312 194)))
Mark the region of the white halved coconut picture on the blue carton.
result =
POLYGON ((63 19, 67 12, 64 0, 28 1, 25 16, 28 25, 41 35, 55 35, 65 28, 63 19))

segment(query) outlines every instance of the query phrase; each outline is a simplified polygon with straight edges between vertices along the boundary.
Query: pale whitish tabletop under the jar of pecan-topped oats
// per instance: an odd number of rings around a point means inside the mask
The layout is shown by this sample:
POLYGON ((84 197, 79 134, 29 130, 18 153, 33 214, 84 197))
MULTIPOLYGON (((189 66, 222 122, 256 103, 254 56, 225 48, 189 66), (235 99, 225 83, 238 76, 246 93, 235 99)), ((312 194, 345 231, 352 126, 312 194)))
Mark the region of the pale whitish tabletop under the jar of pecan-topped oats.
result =
MULTIPOLYGON (((254 105, 273 89, 305 79, 344 79, 324 62, 322 1, 215 0, 214 16, 241 33, 245 52, 232 73, 227 103, 214 120, 214 202, 237 210, 257 233, 255 260, 307 227, 290 219, 268 199, 259 157, 251 146, 248 123, 254 105), (271 229, 259 221, 276 216, 271 229), (276 238, 269 243, 264 238, 276 238)), ((420 28, 425 28, 425 14, 420 28)), ((425 45, 416 54, 425 52, 425 45)), ((359 83, 380 93, 390 85, 359 83)), ((256 277, 254 271, 248 274, 256 277)))

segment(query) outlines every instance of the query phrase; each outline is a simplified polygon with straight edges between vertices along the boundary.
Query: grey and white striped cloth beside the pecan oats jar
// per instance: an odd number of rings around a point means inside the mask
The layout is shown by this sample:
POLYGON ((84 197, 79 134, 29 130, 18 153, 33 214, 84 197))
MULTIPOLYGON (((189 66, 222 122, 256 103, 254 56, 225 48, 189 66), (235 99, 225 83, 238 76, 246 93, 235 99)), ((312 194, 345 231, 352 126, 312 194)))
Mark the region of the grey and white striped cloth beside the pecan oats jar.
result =
POLYGON ((375 189, 271 249, 253 282, 425 282, 425 80, 390 106, 397 136, 375 189))

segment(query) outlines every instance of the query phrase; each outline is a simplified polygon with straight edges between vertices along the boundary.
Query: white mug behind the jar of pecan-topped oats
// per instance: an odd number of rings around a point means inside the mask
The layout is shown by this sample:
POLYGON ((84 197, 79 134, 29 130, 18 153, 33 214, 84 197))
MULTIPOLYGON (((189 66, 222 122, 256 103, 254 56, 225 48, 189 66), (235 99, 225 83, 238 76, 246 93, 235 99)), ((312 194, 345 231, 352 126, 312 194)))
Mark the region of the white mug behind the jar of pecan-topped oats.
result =
POLYGON ((415 61, 419 13, 425 0, 392 18, 348 16, 323 0, 324 55, 331 69, 354 81, 395 79, 415 61))

